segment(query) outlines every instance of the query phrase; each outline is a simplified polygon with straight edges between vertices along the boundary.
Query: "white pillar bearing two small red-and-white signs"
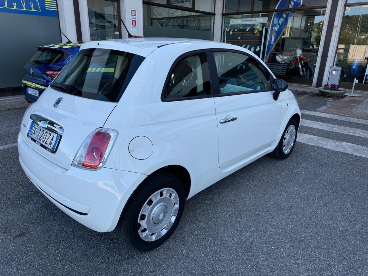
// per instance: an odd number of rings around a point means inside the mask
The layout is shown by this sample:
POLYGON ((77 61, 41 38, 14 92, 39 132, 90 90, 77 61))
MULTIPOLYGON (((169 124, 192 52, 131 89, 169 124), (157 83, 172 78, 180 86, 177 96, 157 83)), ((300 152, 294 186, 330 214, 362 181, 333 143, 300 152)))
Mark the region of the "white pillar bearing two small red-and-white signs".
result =
MULTIPOLYGON (((143 3, 138 0, 120 0, 120 14, 125 26, 133 36, 143 36, 143 3), (131 29, 131 14, 130 10, 137 11, 137 31, 131 29)), ((128 38, 127 32, 123 24, 121 24, 121 36, 128 38)))

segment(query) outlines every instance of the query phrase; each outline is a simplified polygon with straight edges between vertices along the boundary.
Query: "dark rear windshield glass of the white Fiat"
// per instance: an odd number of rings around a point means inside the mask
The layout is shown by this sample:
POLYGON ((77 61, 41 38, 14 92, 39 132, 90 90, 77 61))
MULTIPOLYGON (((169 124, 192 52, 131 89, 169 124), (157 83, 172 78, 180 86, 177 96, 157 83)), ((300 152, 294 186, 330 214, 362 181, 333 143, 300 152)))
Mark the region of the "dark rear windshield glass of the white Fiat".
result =
POLYGON ((80 50, 51 84, 75 96, 118 102, 144 57, 110 49, 80 50))

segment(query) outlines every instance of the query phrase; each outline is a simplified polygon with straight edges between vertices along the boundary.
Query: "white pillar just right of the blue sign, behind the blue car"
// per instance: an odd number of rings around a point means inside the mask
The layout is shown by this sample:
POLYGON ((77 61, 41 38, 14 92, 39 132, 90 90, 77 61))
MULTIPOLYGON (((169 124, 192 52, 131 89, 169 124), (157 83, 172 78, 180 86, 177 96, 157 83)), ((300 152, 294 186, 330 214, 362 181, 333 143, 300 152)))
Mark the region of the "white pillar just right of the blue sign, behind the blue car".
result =
MULTIPOLYGON (((77 31, 75 28, 73 0, 57 1, 59 11, 60 30, 72 41, 77 41, 77 31)), ((87 21, 88 24, 88 21, 87 21)), ((61 41, 67 42, 65 36, 61 34, 61 41)))

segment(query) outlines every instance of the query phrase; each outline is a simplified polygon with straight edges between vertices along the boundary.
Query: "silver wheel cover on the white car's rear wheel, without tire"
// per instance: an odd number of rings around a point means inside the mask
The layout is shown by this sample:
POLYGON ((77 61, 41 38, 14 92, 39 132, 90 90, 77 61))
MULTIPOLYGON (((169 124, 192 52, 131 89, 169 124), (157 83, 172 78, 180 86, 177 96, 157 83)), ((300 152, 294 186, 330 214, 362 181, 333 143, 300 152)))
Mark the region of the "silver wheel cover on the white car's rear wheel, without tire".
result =
POLYGON ((138 234, 145 241, 155 241, 169 231, 179 210, 175 190, 163 188, 152 194, 138 216, 138 234))

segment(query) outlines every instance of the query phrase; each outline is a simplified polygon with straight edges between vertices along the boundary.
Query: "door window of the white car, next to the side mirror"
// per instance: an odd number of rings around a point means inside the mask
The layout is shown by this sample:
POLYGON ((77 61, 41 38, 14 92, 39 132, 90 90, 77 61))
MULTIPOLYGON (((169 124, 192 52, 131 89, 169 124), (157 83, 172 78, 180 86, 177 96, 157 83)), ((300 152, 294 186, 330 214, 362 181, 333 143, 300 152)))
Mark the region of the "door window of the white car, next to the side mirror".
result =
POLYGON ((271 88, 270 74, 254 58, 233 52, 213 52, 220 94, 271 88))

